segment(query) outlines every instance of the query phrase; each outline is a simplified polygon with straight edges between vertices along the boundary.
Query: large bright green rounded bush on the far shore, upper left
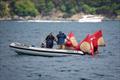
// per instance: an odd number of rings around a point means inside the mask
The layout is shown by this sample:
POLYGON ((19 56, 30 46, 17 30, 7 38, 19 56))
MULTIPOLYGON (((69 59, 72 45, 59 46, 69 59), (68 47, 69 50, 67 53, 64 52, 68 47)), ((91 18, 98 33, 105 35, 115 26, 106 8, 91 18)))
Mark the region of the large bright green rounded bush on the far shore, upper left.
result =
POLYGON ((30 0, 15 1, 14 13, 18 16, 36 16, 38 11, 30 0))

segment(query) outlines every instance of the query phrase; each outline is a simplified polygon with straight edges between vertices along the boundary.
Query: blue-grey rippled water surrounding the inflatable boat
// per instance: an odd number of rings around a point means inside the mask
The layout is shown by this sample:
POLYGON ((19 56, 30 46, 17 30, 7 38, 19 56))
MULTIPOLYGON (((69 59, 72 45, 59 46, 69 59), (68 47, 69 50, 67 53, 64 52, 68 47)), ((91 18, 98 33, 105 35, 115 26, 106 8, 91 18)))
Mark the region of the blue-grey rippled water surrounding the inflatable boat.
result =
POLYGON ((119 80, 120 22, 35 23, 0 21, 0 80, 119 80), (9 48, 11 42, 40 45, 49 32, 73 31, 81 41, 87 33, 102 29, 106 47, 95 57, 89 55, 41 57, 18 55, 9 48))

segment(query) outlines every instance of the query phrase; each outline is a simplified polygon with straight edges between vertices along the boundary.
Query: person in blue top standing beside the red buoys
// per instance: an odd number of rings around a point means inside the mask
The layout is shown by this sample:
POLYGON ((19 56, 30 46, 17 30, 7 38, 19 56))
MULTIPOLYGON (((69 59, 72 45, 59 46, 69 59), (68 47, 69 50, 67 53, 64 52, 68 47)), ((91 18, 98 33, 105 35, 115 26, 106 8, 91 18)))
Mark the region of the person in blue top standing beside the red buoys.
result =
POLYGON ((59 33, 57 34, 56 37, 57 37, 58 48, 59 49, 65 49, 66 35, 62 31, 59 31, 59 33))

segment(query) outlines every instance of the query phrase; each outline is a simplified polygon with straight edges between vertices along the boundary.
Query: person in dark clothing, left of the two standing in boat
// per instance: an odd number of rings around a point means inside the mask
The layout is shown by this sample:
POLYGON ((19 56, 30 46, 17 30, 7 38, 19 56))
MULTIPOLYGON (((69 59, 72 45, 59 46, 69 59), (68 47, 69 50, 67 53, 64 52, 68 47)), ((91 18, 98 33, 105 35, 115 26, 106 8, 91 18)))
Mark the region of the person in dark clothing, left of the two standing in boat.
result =
POLYGON ((53 48, 53 43, 54 41, 56 41, 55 37, 53 36, 52 33, 50 33, 47 37, 46 37, 46 48, 53 48))

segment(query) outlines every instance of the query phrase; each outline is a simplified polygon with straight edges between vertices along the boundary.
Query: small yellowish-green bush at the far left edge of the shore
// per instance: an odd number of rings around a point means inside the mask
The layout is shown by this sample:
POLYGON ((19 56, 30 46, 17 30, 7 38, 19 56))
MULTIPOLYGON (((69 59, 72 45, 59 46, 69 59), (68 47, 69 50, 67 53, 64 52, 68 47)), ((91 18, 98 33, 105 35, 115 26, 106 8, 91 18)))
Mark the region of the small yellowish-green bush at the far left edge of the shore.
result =
POLYGON ((9 15, 8 3, 0 1, 0 17, 9 15))

